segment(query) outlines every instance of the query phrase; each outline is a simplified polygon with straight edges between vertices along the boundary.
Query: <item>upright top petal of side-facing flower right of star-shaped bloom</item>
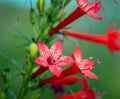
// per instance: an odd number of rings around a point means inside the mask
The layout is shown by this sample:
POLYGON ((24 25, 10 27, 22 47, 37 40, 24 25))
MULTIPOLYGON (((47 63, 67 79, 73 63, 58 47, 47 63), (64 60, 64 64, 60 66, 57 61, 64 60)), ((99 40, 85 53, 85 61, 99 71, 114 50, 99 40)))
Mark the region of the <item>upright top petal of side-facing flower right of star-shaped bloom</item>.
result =
POLYGON ((81 53, 81 50, 78 46, 76 46, 73 54, 73 59, 75 59, 76 63, 79 64, 82 60, 82 53, 81 53))

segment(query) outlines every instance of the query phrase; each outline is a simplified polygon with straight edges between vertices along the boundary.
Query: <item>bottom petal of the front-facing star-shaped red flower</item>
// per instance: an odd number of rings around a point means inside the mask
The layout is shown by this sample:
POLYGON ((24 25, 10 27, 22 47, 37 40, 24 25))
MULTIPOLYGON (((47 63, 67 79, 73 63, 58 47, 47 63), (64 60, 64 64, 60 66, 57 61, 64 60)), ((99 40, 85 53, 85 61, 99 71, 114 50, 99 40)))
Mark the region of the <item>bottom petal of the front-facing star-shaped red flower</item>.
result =
POLYGON ((59 66, 57 66, 57 65, 49 66, 49 69, 57 77, 59 77, 61 75, 61 73, 62 73, 62 69, 59 66))

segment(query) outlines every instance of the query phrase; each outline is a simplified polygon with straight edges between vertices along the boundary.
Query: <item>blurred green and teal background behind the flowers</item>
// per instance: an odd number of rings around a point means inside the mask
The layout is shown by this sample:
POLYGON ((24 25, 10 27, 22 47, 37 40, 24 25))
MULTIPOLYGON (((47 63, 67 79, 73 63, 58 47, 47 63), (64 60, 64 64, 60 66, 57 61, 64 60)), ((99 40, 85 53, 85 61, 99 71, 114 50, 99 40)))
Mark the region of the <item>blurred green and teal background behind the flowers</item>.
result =
MULTIPOLYGON (((32 1, 35 2, 36 0, 32 1)), ((29 22, 29 0, 26 9, 19 21, 17 21, 24 2, 25 0, 0 0, 0 54, 6 55, 9 59, 17 60, 19 64, 23 63, 26 46, 15 47, 21 44, 21 42, 25 43, 26 41, 16 38, 15 35, 19 34, 18 30, 30 38, 33 35, 33 27, 29 22)), ((104 20, 98 21, 84 16, 69 25, 72 27, 72 30, 101 34, 106 33, 108 27, 113 23, 116 23, 116 29, 120 30, 120 5, 116 5, 112 0, 102 0, 102 3, 103 9, 99 14, 104 16, 104 20)), ((76 2, 72 0, 65 8, 65 15, 69 15, 76 6, 76 2)), ((63 44, 63 53, 70 55, 76 45, 80 46, 84 58, 93 57, 95 61, 99 59, 102 62, 93 69, 99 76, 99 79, 89 79, 90 88, 102 92, 104 94, 102 99, 120 99, 120 52, 112 55, 105 46, 66 37, 63 44)), ((10 66, 10 62, 0 57, 0 67, 5 66, 10 66)), ((11 72, 15 74, 14 70, 11 72)), ((14 78, 14 81, 11 81, 12 87, 18 86, 17 81, 15 81, 16 79, 14 78)), ((79 90, 78 84, 74 84, 71 88, 73 91, 79 90)), ((53 92, 50 90, 46 91, 42 99, 53 97, 51 93, 53 92)))

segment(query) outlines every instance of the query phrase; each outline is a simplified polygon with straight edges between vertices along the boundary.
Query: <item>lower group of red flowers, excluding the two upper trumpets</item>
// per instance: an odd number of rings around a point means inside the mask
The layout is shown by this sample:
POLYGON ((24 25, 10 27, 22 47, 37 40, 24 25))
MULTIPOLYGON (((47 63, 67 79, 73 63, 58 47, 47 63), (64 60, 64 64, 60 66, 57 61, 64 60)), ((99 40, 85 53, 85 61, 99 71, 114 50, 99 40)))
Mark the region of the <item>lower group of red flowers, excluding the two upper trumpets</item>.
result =
POLYGON ((90 70, 95 66, 91 59, 82 59, 82 53, 77 46, 72 53, 72 57, 62 55, 62 42, 55 42, 50 49, 38 42, 38 49, 40 56, 35 59, 35 63, 41 65, 40 68, 31 75, 34 78, 46 70, 50 70, 54 76, 39 82, 39 86, 51 84, 51 89, 55 94, 58 92, 64 96, 55 99, 96 99, 94 90, 88 88, 87 79, 81 79, 78 76, 70 76, 76 73, 81 73, 89 78, 98 79, 98 77, 90 70), (61 66, 73 65, 62 72, 61 66), (85 80, 85 81, 84 81, 85 80), (70 95, 65 95, 63 85, 82 82, 83 89, 70 95))

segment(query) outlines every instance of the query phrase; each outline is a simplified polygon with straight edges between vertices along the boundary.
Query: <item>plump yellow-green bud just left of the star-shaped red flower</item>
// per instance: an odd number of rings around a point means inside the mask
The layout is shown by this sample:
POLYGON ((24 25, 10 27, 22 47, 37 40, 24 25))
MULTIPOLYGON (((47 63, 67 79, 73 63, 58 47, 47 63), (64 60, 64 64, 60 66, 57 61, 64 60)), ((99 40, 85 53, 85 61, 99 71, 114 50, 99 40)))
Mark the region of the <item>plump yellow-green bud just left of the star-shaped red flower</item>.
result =
POLYGON ((37 51, 38 51, 37 44, 32 42, 29 45, 30 58, 33 58, 36 55, 37 51))

